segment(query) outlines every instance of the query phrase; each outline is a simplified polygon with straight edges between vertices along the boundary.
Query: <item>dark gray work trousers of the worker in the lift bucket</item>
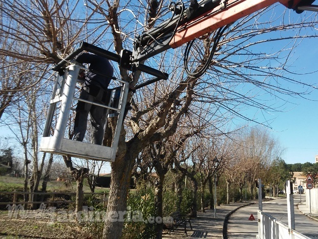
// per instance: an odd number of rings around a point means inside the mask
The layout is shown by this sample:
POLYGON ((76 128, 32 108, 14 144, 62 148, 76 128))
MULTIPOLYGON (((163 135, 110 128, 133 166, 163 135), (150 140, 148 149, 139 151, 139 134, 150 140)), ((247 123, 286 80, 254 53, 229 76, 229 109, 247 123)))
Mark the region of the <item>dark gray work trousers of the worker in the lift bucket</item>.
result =
MULTIPOLYGON (((90 102, 104 104, 103 98, 106 93, 103 89, 95 90, 94 95, 90 94, 91 89, 84 87, 79 98, 86 99, 90 102)), ((79 101, 76 107, 76 116, 74 121, 74 140, 83 141, 87 130, 88 114, 91 115, 92 123, 92 140, 91 143, 101 145, 104 137, 106 109, 100 106, 92 105, 79 101)))

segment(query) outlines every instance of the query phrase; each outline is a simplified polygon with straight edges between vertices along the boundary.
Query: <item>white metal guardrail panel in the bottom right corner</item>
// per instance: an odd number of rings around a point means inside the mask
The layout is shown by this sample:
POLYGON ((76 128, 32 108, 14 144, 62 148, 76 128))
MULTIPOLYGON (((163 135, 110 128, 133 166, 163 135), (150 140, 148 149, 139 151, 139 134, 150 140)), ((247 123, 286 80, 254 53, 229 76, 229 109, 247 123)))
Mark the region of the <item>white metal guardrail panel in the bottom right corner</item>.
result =
POLYGON ((292 230, 284 223, 260 210, 258 210, 258 220, 259 234, 256 236, 257 239, 318 239, 318 237, 308 237, 292 230))

